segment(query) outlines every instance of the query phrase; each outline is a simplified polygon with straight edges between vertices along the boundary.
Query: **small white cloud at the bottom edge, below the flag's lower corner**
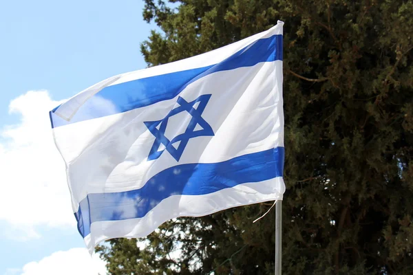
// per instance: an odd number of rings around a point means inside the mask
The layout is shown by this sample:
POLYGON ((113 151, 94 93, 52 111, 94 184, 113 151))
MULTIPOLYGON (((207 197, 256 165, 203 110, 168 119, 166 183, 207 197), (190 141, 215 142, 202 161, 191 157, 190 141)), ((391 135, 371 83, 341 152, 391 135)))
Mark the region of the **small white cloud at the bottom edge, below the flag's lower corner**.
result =
POLYGON ((90 256, 86 248, 72 248, 67 251, 54 252, 38 262, 23 266, 19 275, 105 275, 105 261, 97 254, 90 256))

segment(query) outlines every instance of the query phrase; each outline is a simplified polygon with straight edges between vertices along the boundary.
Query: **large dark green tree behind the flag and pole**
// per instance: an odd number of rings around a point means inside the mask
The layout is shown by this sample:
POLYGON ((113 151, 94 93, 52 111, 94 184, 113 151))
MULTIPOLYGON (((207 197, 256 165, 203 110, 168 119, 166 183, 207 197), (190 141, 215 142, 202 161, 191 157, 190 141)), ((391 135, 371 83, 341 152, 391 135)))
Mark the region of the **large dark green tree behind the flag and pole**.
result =
MULTIPOLYGON (((284 274, 413 274, 413 1, 145 0, 149 66, 284 25, 284 274)), ((100 246, 110 274, 273 274, 271 203, 100 246), (172 255, 172 256, 171 256, 172 255), (178 256, 177 256, 178 255, 178 256)))

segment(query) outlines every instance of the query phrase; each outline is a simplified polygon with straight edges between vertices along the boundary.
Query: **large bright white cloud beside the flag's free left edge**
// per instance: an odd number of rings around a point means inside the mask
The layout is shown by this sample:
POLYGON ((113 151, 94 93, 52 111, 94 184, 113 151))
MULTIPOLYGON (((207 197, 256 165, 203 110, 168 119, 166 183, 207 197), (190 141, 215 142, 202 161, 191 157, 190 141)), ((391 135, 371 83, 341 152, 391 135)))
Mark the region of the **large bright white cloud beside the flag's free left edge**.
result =
POLYGON ((14 239, 39 238, 38 225, 75 224, 48 114, 58 104, 47 91, 28 91, 9 105, 19 123, 0 126, 0 220, 10 224, 3 234, 14 239))

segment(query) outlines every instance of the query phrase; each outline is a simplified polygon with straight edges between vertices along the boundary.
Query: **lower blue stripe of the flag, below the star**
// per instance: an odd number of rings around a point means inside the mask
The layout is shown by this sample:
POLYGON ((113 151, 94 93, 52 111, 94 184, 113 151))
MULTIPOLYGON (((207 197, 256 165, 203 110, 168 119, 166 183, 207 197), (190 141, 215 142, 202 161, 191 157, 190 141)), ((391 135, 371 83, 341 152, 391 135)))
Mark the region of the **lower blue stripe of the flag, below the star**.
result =
POLYGON ((171 195, 205 195, 247 182, 282 177, 284 147, 212 164, 181 164, 162 170, 137 190, 89 194, 75 213, 83 237, 95 221, 142 218, 171 195))

